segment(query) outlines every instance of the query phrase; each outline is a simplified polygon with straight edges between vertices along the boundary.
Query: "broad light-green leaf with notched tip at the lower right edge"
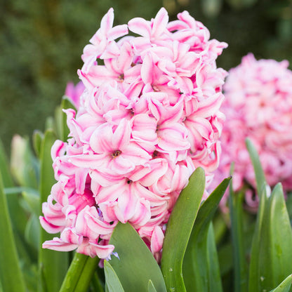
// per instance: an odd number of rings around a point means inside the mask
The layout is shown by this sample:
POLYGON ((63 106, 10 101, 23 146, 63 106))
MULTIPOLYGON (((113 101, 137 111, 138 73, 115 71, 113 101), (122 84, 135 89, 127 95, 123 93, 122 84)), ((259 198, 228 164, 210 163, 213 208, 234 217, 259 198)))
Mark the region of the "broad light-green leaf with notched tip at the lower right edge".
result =
POLYGON ((281 184, 264 188, 251 248, 249 292, 270 291, 292 270, 292 230, 281 184))

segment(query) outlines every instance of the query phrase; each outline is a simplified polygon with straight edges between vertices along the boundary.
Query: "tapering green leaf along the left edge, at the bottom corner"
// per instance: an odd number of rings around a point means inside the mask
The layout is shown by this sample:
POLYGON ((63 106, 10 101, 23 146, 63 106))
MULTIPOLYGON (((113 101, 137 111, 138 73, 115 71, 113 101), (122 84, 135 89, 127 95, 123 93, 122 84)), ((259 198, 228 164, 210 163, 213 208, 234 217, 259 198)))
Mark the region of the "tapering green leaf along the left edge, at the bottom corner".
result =
POLYGON ((25 292, 18 254, 8 213, 6 195, 0 175, 0 281, 5 292, 25 292))

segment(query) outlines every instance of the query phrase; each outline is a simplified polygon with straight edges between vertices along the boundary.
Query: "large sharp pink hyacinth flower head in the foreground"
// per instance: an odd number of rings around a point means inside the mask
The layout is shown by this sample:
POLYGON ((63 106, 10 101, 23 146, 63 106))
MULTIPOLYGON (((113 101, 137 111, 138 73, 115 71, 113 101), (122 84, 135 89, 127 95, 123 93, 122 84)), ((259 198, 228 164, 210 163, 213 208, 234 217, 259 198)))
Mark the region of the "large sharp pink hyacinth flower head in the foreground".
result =
POLYGON ((58 183, 41 225, 60 237, 43 247, 107 258, 120 221, 158 259, 190 175, 201 166, 209 181, 218 167, 227 72, 215 60, 227 44, 209 40, 187 11, 173 22, 164 8, 151 21, 112 27, 113 20, 110 8, 84 48, 78 74, 86 88, 77 113, 65 110, 72 138, 52 148, 58 183))

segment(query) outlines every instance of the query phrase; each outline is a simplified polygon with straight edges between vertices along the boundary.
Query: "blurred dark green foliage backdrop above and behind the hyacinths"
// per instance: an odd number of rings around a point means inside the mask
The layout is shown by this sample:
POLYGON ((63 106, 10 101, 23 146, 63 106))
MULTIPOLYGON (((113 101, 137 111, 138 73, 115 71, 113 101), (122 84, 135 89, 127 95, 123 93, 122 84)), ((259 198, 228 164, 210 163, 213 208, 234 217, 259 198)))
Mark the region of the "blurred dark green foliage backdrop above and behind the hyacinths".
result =
POLYGON ((46 117, 77 83, 80 55, 108 8, 114 24, 147 20, 164 6, 171 20, 183 10, 229 47, 218 66, 230 69, 248 52, 292 63, 292 0, 1 0, 0 137, 7 152, 12 135, 44 129, 46 117))

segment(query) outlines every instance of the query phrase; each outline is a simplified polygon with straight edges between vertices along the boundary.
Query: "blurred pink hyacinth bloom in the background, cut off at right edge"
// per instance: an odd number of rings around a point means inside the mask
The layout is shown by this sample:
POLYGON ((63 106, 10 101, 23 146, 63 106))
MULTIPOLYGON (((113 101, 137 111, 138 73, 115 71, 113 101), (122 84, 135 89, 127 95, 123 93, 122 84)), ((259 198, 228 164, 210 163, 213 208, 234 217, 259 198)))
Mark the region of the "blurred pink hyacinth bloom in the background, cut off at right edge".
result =
MULTIPOLYGON (((250 53, 230 69, 223 87, 223 152, 214 182, 229 175, 234 161, 234 190, 241 190, 245 182, 255 188, 245 145, 248 137, 258 150, 267 183, 281 182, 284 189, 292 190, 292 72, 287 67, 286 60, 255 60, 250 53)), ((256 200, 251 191, 246 192, 250 207, 257 205, 256 200)))

